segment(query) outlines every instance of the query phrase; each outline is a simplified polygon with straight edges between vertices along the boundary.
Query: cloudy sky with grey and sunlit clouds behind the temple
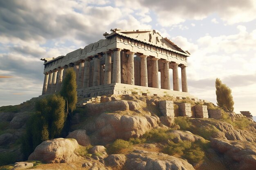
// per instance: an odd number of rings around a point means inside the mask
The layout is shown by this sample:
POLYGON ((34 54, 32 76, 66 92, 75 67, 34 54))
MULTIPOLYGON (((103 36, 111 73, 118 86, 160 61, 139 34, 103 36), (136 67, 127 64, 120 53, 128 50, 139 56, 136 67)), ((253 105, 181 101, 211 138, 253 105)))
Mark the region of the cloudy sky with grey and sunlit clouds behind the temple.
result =
POLYGON ((159 31, 191 53, 191 95, 216 104, 218 77, 232 90, 234 111, 256 116, 255 0, 0 0, 0 106, 41 95, 40 58, 115 28, 159 31))

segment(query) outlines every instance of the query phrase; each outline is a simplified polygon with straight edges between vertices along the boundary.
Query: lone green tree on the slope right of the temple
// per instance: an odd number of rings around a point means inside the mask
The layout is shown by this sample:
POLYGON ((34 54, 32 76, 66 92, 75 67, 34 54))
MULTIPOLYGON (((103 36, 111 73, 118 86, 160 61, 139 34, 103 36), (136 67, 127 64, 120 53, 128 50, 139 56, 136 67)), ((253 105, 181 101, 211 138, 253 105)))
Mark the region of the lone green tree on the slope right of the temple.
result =
POLYGON ((222 108, 223 110, 233 112, 234 101, 233 96, 231 95, 231 89, 226 86, 226 84, 222 84, 219 78, 216 78, 215 87, 217 105, 220 106, 220 108, 222 108))

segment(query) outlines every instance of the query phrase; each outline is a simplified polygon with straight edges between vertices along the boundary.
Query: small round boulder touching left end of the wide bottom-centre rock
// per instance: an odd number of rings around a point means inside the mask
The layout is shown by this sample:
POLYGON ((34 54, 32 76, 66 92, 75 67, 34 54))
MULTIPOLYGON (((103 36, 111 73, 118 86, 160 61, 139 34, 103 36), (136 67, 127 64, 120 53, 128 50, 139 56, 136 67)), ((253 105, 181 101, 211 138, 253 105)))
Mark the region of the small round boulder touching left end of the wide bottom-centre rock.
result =
POLYGON ((106 165, 121 169, 126 162, 126 156, 124 154, 109 155, 105 161, 106 165))

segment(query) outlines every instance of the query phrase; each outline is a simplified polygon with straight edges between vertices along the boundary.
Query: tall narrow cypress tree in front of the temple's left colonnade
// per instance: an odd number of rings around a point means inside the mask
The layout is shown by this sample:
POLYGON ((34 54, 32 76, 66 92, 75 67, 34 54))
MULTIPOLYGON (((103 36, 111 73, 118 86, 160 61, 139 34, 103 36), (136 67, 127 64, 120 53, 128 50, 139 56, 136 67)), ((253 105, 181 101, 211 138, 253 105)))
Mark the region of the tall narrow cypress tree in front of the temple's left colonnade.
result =
POLYGON ((77 91, 76 91, 76 73, 73 68, 68 68, 62 82, 60 94, 66 100, 67 113, 76 109, 77 91))

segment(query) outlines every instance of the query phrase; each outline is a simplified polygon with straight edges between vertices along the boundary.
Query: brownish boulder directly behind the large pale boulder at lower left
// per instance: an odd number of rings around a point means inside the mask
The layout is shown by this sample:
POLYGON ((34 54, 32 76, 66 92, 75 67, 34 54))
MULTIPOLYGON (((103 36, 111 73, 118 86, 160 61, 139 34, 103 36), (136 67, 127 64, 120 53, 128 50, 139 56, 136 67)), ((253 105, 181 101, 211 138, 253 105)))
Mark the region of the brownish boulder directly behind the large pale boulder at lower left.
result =
POLYGON ((90 137, 86 135, 86 130, 74 130, 70 132, 65 138, 76 139, 77 143, 81 146, 88 146, 91 144, 90 137))

